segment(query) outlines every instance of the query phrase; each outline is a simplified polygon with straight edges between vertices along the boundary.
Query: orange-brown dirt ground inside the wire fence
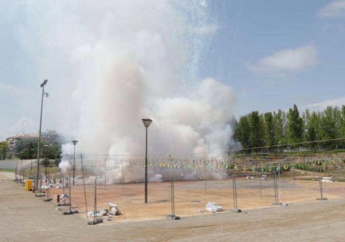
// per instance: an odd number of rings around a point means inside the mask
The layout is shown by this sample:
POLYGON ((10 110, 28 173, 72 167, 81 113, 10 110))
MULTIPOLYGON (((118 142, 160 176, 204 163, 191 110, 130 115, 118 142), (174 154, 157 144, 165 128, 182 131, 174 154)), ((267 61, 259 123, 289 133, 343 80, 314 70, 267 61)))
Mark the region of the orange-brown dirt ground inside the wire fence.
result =
MULTIPOLYGON (((79 181, 78 181, 79 183, 79 181)), ((78 184, 76 182, 76 184, 78 184)), ((236 179, 237 204, 240 209, 266 208, 274 206, 274 180, 236 179)), ((204 215, 208 202, 222 205, 225 210, 234 208, 232 179, 205 181, 184 181, 174 183, 175 214, 181 216, 204 215), (206 188, 205 188, 206 187, 206 188)), ((50 189, 50 194, 62 194, 62 189, 50 189)), ((65 189, 65 193, 69 193, 65 189)), ((73 209, 86 218, 85 196, 82 185, 71 188, 73 209)), ((328 199, 345 197, 345 183, 323 182, 323 196, 328 199)), ((86 185, 88 211, 94 206, 94 185, 86 185)), ((278 202, 296 203, 313 201, 321 197, 319 182, 313 180, 287 180, 278 182, 278 202)), ((66 200, 66 202, 69 202, 66 200)), ((108 203, 117 204, 124 215, 117 216, 118 222, 155 220, 171 214, 170 182, 149 183, 148 203, 144 203, 144 184, 102 184, 97 186, 97 210, 108 208, 108 203)))

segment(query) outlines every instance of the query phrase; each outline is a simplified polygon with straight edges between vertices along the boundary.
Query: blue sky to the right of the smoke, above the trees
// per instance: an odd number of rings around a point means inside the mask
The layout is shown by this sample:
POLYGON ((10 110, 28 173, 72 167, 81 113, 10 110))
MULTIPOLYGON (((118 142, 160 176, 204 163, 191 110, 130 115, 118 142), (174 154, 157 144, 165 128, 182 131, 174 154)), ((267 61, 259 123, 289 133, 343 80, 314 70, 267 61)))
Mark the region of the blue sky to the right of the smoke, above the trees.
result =
POLYGON ((345 104, 345 1, 224 1, 217 11, 203 74, 233 86, 236 116, 345 104))

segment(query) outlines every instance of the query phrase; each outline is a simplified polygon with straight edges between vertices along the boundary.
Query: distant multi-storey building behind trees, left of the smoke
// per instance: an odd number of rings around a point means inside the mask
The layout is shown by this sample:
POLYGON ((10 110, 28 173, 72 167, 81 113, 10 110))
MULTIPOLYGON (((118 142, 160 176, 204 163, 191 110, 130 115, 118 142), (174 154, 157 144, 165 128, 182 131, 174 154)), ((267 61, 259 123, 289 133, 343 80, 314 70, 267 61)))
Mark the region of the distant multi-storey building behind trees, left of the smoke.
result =
MULTIPOLYGON (((9 151, 12 153, 15 152, 17 142, 22 140, 38 142, 38 136, 39 132, 17 134, 16 136, 6 138, 9 151)), ((45 141, 49 143, 49 145, 61 145, 65 142, 65 138, 62 134, 56 132, 55 130, 46 130, 46 132, 41 132, 41 141, 45 141)))

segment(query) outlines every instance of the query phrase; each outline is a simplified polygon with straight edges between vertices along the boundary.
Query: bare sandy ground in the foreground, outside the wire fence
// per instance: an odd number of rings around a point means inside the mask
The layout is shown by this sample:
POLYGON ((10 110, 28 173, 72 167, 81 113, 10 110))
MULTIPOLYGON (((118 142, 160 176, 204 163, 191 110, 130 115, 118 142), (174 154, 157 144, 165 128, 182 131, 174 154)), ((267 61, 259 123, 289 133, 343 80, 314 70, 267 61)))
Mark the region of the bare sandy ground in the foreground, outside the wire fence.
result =
POLYGON ((0 174, 1 241, 344 241, 345 236, 343 198, 179 221, 98 225, 55 208, 0 174))

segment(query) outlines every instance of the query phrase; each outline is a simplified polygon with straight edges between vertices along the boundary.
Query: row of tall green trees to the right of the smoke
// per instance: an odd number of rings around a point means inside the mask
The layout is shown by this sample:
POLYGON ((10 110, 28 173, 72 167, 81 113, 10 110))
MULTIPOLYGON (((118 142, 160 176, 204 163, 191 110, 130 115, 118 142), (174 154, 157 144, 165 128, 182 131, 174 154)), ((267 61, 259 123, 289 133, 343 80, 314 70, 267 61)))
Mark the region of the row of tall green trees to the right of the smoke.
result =
MULTIPOLYGON (((280 109, 262 114, 253 111, 234 122, 234 139, 239 141, 243 148, 344 138, 345 105, 341 108, 328 106, 323 111, 311 112, 306 109, 302 114, 299 113, 297 105, 287 112, 280 109)), ((310 143, 298 147, 315 150, 319 146, 333 149, 345 146, 345 141, 310 143)))

